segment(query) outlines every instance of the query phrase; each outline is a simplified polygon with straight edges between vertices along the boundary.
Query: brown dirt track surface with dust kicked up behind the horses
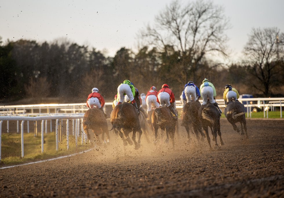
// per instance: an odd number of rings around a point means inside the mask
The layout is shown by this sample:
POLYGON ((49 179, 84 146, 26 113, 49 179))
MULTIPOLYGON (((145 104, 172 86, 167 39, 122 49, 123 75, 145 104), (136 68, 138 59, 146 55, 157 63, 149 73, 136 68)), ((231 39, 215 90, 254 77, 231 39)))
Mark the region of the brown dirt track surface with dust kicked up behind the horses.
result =
POLYGON ((174 151, 165 137, 134 150, 113 136, 107 148, 1 169, 0 197, 284 197, 284 120, 247 125, 241 141, 221 119, 225 145, 212 151, 193 134, 187 143, 184 127, 174 151))

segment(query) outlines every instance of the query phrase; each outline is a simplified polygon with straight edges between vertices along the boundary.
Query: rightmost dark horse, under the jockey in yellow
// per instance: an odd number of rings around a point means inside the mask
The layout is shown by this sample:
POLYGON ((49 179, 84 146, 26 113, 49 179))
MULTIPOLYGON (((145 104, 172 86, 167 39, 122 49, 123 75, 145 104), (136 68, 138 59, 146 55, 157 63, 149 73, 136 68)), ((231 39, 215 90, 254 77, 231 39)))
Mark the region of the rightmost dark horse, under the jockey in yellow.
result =
POLYGON ((239 122, 241 124, 241 137, 243 138, 245 135, 245 138, 247 139, 248 134, 245 113, 245 106, 239 101, 231 101, 230 103, 228 103, 224 112, 227 120, 233 125, 234 130, 238 133, 240 132, 240 130, 237 127, 236 123, 239 122))

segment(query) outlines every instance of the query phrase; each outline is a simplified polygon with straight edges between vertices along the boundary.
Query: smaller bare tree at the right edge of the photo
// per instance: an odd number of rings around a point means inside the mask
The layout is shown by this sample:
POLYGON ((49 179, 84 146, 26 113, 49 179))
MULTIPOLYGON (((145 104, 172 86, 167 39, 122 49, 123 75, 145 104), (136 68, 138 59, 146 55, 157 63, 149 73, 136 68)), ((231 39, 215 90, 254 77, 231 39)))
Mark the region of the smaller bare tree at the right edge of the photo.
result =
POLYGON ((284 34, 276 27, 253 28, 244 47, 247 67, 252 75, 252 86, 264 96, 270 96, 277 76, 283 71, 284 34), (281 65, 281 66, 280 66, 281 65))

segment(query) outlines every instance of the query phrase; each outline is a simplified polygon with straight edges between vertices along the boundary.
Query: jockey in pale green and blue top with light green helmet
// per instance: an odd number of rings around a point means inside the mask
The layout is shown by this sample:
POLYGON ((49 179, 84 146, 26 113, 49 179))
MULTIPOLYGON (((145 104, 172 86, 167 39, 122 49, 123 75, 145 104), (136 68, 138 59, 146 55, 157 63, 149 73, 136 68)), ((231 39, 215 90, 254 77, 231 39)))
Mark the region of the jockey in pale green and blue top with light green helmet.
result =
POLYGON ((202 105, 205 105, 207 103, 207 100, 209 99, 209 102, 216 106, 221 114, 222 110, 219 108, 218 103, 214 99, 214 97, 216 96, 216 90, 214 85, 205 78, 200 86, 200 90, 201 97, 203 98, 202 105))

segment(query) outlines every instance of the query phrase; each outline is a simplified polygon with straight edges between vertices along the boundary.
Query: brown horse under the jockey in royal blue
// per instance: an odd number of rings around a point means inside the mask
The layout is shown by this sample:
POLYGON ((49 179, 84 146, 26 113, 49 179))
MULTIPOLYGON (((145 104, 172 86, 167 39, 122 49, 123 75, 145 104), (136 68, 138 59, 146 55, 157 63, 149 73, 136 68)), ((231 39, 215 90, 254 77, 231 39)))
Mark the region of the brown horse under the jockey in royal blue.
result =
POLYGON ((193 131, 196 135, 196 139, 199 142, 199 134, 201 134, 201 140, 204 141, 206 137, 201 126, 200 118, 198 116, 198 111, 201 107, 200 102, 191 101, 185 104, 183 107, 183 119, 182 125, 185 127, 187 132, 187 142, 190 142, 190 126, 192 126, 193 131))

